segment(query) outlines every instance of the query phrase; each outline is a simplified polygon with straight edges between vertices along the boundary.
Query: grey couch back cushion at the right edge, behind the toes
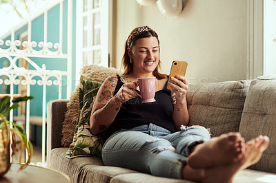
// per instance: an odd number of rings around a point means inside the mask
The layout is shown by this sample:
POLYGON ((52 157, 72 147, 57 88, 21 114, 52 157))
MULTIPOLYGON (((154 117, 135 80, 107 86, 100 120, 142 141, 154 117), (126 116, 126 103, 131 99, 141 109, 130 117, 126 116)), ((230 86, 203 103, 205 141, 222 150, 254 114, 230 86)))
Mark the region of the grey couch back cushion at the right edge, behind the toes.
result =
POLYGON ((276 173, 276 79, 253 80, 244 103, 239 132, 246 140, 258 135, 270 138, 261 160, 250 169, 276 173))

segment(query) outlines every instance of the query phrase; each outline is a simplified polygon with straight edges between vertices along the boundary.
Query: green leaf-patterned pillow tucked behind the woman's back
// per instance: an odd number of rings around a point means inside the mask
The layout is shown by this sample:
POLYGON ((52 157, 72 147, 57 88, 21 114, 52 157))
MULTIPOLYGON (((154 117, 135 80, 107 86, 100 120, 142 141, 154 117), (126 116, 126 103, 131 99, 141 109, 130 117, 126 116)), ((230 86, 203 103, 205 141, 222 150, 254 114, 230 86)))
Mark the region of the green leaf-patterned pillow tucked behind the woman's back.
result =
POLYGON ((101 83, 86 79, 81 76, 79 88, 79 112, 78 123, 75 127, 73 141, 66 152, 66 158, 79 156, 96 156, 101 158, 101 148, 106 141, 104 134, 94 136, 90 131, 90 113, 93 101, 97 95, 101 83))

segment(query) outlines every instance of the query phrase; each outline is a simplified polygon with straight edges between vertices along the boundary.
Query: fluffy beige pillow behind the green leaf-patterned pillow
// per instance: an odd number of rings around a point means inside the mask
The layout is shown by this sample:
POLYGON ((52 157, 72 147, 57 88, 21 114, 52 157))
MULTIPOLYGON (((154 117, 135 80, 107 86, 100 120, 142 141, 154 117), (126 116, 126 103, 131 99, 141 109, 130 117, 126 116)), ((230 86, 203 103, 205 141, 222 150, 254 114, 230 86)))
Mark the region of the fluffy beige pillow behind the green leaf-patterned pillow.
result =
MULTIPOLYGON (((103 67, 99 65, 86 65, 81 68, 80 75, 83 78, 89 78, 99 83, 103 83, 108 76, 120 74, 119 69, 114 67, 103 67)), ((75 133, 75 127, 78 123, 78 116, 81 108, 79 106, 79 88, 81 83, 75 87, 75 91, 70 96, 70 101, 67 104, 66 115, 62 123, 61 144, 63 147, 69 147, 72 143, 75 133)))

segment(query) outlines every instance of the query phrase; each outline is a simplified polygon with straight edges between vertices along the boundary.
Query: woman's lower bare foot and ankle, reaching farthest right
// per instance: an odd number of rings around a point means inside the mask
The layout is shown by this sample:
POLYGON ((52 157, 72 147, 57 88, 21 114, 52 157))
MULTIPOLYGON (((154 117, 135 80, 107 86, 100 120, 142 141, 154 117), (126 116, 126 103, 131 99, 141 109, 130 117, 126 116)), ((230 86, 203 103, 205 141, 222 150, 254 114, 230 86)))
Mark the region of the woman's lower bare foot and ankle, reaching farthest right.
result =
POLYGON ((238 171, 257 163, 268 145, 269 138, 267 136, 258 136, 246 142, 242 159, 233 164, 213 166, 206 169, 193 169, 186 165, 183 170, 184 179, 206 183, 230 183, 238 171))

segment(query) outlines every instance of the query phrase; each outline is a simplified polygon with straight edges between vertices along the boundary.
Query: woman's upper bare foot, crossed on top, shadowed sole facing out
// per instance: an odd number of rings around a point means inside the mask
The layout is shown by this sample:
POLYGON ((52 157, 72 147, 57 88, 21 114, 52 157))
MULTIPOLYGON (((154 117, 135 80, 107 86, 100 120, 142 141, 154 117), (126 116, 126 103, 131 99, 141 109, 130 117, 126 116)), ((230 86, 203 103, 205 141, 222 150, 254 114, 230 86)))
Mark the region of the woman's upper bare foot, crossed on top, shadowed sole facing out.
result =
POLYGON ((226 165, 239 161, 244 151, 244 138, 239 133, 226 133, 198 144, 188 157, 194 169, 226 165))

